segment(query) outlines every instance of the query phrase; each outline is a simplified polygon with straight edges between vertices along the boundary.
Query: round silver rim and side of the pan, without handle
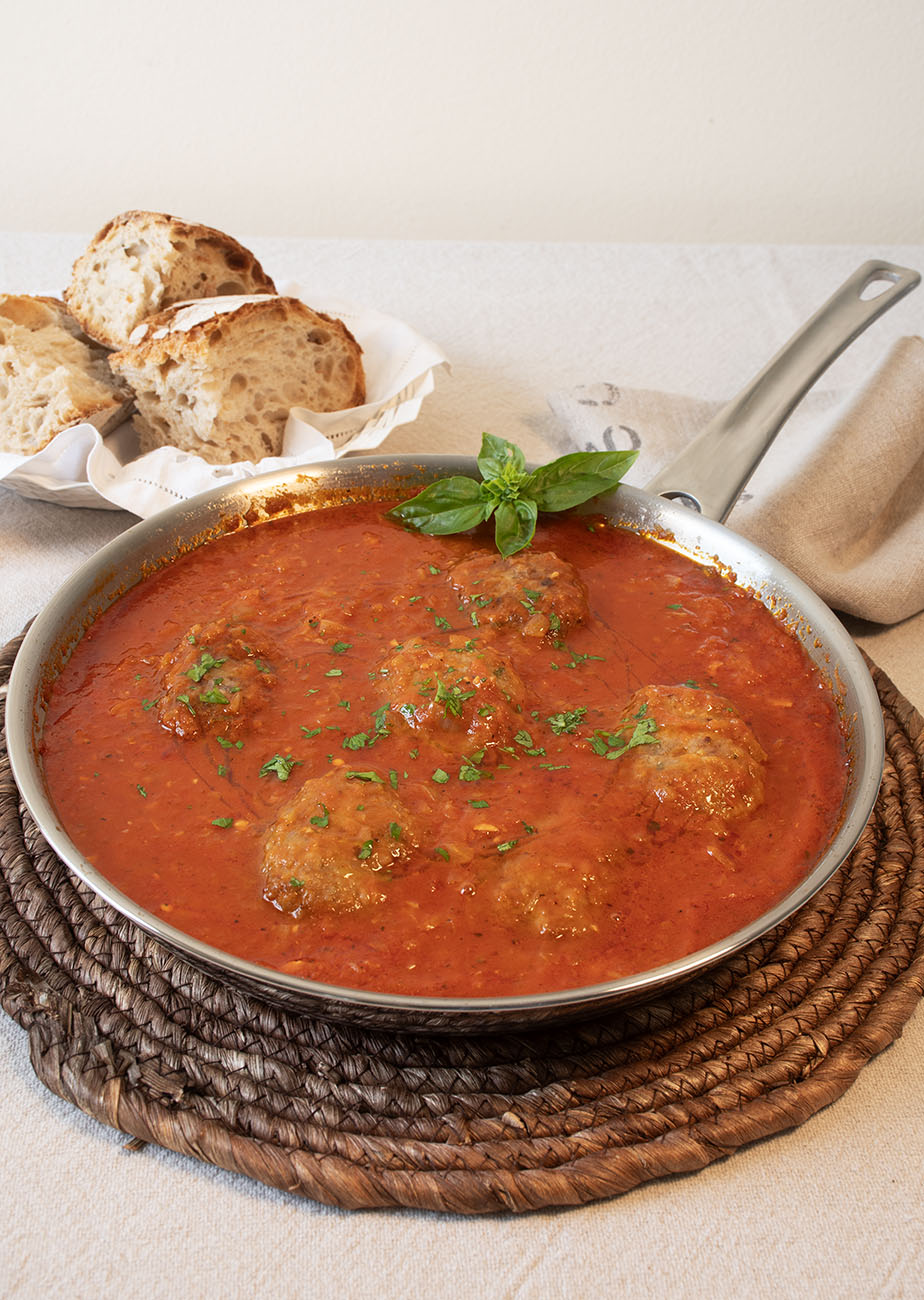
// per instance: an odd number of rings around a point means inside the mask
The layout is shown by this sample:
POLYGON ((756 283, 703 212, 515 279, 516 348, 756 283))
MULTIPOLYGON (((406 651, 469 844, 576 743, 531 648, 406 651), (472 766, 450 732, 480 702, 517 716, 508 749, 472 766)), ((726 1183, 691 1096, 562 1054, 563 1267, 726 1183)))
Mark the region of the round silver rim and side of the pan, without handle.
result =
MULTIPOLYGON (((444 455, 346 458, 339 462, 303 465, 298 469, 273 471, 246 480, 243 484, 235 482, 212 489, 126 529, 81 566, 35 618, 23 637, 8 685, 6 748, 13 777, 29 812, 52 850, 78 879, 120 915, 173 952, 178 952, 192 965, 205 965, 211 971, 226 975, 238 985, 243 983, 264 997, 270 1000, 276 997, 290 1008, 303 1006, 312 1014, 322 1017, 326 1014, 333 1019, 350 1019, 356 1014, 372 1017, 374 1023, 382 1026, 391 1024, 398 1028, 412 1026, 416 1030, 431 1027, 439 1031, 465 1030, 469 1024, 480 1030, 496 1027, 500 1031, 517 1024, 528 1026, 565 1017, 599 1014, 610 1008, 637 1004, 659 991, 685 983, 732 957, 778 926, 817 893, 856 845, 872 812, 882 775, 885 737, 881 708, 863 656, 820 597, 768 552, 741 538, 724 524, 625 485, 606 498, 598 498, 594 507, 603 508, 615 523, 633 526, 635 532, 639 530, 638 520, 641 520, 646 525, 646 532, 652 536, 664 534, 658 536, 658 541, 673 546, 700 564, 715 563, 717 559, 726 569, 736 571, 741 568, 736 560, 743 556, 754 566, 754 572, 763 576, 763 581, 760 589, 751 582, 738 585, 752 592, 764 604, 777 590, 785 590, 788 601, 798 610, 803 628, 795 630, 784 619, 785 625, 795 632, 803 645, 806 637, 821 642, 825 654, 833 660, 832 672, 827 673, 829 685, 838 699, 838 707, 850 715, 846 720, 854 728, 853 785, 849 783, 840 824, 812 870, 759 918, 695 953, 647 971, 597 984, 504 997, 390 994, 325 984, 235 957, 187 935, 140 907, 95 868, 61 826, 42 777, 38 754, 42 728, 40 699, 53 679, 53 673, 49 673, 52 654, 58 654, 58 663, 66 660, 92 619, 125 589, 126 584, 122 584, 118 590, 112 590, 120 569, 130 560, 139 567, 134 581, 143 580, 152 567, 159 568, 170 563, 173 556, 168 552, 153 566, 146 558, 152 549, 159 549, 159 543, 166 545, 169 540, 170 546, 182 547, 183 538, 188 537, 194 545, 201 545, 220 532, 227 530, 229 520, 243 517, 244 506, 253 512, 256 504, 256 515, 266 510, 270 512, 244 521, 244 526, 263 523, 264 517, 272 517, 272 511, 276 508, 273 502, 279 498, 281 490, 294 493, 296 498, 317 495, 318 484, 333 493, 343 493, 344 488, 365 490, 379 476, 389 473, 390 481, 398 476, 422 484, 447 473, 467 473, 476 477, 477 465, 473 458, 444 455), (637 515, 638 520, 633 521, 632 515, 637 515), (690 549, 691 538, 695 543, 693 549, 690 549), (97 602, 105 603, 88 608, 94 593, 97 602), (61 644, 64 624, 70 629, 69 637, 64 638, 66 645, 61 644), (79 633, 78 624, 82 629, 79 633)), ((174 554, 178 551, 174 550, 174 554)), ((127 585, 134 585, 134 581, 127 585)), ((781 616, 777 611, 772 612, 781 616)), ((817 663, 811 647, 806 645, 806 649, 817 663)))

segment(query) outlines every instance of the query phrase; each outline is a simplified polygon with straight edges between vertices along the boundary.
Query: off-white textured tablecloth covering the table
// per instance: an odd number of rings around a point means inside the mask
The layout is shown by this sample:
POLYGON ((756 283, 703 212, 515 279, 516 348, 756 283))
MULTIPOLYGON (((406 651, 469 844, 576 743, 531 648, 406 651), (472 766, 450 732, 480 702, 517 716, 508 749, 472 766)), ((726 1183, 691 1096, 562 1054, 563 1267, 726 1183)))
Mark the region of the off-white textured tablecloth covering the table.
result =
MULTIPOLYGON (((60 292, 83 242, 0 235, 0 290, 60 292)), ((248 242, 277 281, 400 316, 447 351, 452 373, 386 450, 472 452, 489 429, 534 459, 552 390, 607 380, 730 396, 860 261, 924 269, 924 247, 248 242)), ((821 382, 860 382, 918 333, 924 290, 821 382)), ((3 644, 133 521, 0 488, 3 644)), ((924 615, 851 630, 924 708, 924 615)), ((920 1296, 923 1084, 919 1011, 834 1105, 702 1173, 525 1218, 347 1213, 125 1150, 35 1080, 26 1035, 0 1015, 0 1294, 920 1296)))

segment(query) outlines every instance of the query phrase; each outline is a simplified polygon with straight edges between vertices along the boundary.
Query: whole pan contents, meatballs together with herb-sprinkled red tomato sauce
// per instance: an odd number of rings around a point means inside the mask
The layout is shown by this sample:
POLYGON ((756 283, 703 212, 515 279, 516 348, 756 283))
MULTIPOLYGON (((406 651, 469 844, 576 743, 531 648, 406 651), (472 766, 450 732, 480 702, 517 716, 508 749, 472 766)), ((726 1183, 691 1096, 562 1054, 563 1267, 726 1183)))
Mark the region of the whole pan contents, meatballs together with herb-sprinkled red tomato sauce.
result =
POLYGON ((543 514, 532 547, 504 558, 490 523, 428 537, 385 508, 222 537, 78 644, 44 759, 65 826, 109 879, 265 966, 447 996, 650 968, 791 888, 836 819, 843 757, 833 703, 767 610, 597 517, 543 514), (105 688, 96 662, 120 666, 105 688), (211 690, 230 702, 203 703, 211 690), (143 708, 168 693, 198 729, 169 733, 162 705, 143 708), (707 806, 711 764, 733 777, 720 803, 750 792, 746 815, 707 806), (143 861, 116 853, 120 819, 143 861))

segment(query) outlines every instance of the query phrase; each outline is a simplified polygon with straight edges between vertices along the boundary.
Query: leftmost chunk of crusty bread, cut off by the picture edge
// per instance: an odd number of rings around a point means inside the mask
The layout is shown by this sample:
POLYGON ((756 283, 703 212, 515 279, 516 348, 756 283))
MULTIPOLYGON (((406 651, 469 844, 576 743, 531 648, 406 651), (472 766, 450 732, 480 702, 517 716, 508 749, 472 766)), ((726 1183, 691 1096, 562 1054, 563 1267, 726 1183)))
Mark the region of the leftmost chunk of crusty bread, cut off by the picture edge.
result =
POLYGON ((0 294, 0 450, 30 456, 83 420, 100 433, 131 394, 57 298, 0 294))

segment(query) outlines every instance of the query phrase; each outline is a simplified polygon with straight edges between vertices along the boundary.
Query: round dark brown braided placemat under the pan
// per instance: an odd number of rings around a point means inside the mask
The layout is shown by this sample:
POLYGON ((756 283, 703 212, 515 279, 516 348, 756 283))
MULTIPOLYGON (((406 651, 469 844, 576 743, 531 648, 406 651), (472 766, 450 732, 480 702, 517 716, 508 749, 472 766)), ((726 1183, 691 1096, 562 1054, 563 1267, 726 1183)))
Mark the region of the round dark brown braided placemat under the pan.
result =
POLYGON ((0 1004, 39 1079, 136 1144, 331 1205, 528 1210, 700 1169, 838 1097, 924 991, 924 723, 872 672, 885 779, 821 893, 658 1001, 534 1034, 370 1032, 217 983, 70 875, 4 742, 0 1004))

